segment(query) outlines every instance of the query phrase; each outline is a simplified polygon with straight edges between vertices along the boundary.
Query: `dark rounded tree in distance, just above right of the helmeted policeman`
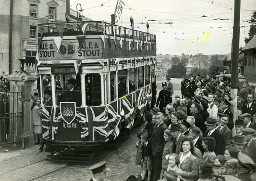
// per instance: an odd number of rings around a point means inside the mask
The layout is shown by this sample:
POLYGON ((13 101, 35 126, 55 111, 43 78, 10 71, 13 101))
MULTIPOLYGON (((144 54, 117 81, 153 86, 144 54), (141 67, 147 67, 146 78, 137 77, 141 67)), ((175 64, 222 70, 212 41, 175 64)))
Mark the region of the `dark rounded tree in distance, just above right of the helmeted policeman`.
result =
POLYGON ((185 63, 183 62, 173 64, 171 66, 171 69, 167 71, 168 76, 172 78, 179 78, 179 77, 185 76, 186 73, 187 73, 187 68, 185 63))

